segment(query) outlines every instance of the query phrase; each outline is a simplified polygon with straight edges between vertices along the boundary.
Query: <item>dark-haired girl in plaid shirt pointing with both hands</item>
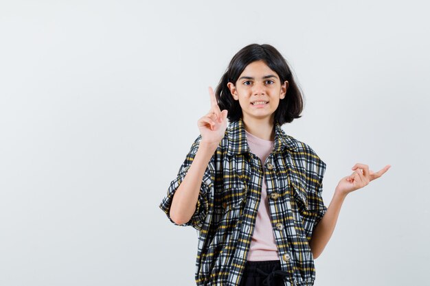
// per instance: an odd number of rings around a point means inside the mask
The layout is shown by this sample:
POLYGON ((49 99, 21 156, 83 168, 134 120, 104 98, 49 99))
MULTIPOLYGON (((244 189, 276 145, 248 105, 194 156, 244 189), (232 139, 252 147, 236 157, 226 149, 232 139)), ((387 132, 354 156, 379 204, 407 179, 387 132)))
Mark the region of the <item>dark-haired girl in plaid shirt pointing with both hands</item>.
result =
POLYGON ((390 166, 374 173, 357 163, 326 208, 326 163, 281 128, 301 117, 303 98, 271 45, 236 53, 210 99, 160 204, 171 222, 198 230, 196 284, 313 285, 346 195, 390 166))

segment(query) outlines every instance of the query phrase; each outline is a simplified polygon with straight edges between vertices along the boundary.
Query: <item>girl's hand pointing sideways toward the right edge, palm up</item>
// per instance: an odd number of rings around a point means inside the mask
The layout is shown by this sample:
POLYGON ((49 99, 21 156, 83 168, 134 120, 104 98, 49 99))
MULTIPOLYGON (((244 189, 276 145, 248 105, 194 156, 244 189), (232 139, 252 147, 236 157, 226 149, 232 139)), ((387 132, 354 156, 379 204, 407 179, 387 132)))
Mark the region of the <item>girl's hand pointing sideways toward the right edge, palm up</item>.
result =
POLYGON ((386 165, 383 169, 374 173, 374 171, 369 169, 369 166, 357 163, 352 167, 355 171, 350 176, 343 177, 339 181, 336 192, 342 195, 348 195, 348 193, 352 191, 361 189, 369 184, 370 181, 381 177, 390 167, 391 165, 386 165))

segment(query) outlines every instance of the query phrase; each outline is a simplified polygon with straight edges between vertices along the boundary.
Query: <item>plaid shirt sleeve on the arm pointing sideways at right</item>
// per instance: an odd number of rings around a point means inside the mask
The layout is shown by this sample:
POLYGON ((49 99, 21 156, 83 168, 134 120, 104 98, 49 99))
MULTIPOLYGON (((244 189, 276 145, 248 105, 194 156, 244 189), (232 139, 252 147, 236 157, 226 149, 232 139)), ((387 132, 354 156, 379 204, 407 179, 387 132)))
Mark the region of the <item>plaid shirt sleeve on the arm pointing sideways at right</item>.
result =
POLYGON ((304 215, 304 229, 308 241, 312 238, 313 230, 315 230, 315 227, 327 212, 327 207, 322 198, 326 163, 318 159, 315 163, 315 167, 318 175, 315 177, 315 184, 310 188, 310 192, 308 193, 308 209, 304 215))

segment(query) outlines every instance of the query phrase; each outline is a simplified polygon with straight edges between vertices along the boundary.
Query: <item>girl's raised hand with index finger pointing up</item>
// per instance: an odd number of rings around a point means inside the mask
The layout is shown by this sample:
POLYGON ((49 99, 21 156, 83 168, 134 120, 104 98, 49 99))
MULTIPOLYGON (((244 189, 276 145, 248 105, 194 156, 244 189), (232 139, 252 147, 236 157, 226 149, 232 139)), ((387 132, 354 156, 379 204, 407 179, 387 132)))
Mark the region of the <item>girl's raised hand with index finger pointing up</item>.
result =
POLYGON ((221 112, 212 87, 209 87, 211 108, 207 115, 197 121, 202 141, 219 144, 227 129, 227 110, 221 112))

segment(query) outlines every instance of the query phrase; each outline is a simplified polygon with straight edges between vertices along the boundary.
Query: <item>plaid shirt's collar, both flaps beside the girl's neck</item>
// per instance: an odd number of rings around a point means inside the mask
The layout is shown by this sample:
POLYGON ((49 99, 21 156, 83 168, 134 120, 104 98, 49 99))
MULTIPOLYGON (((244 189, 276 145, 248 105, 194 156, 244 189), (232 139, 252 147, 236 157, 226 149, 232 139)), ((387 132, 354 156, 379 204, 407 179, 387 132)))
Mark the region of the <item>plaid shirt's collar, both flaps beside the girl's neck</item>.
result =
MULTIPOLYGON (((227 136, 229 139, 227 155, 233 156, 245 152, 251 152, 245 133, 245 124, 240 118, 238 121, 231 121, 227 127, 227 136)), ((273 152, 281 152, 284 148, 295 150, 297 143, 291 136, 285 134, 279 123, 275 123, 275 143, 273 152)))

